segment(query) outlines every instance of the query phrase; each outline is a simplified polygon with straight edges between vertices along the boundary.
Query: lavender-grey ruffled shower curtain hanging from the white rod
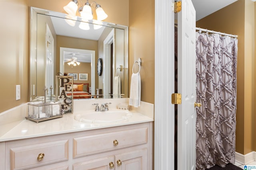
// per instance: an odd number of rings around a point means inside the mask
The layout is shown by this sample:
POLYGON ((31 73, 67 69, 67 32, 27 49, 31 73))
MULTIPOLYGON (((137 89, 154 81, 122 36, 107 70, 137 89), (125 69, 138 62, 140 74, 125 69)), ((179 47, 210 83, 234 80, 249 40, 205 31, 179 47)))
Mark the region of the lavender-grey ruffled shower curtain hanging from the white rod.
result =
POLYGON ((196 168, 235 162, 236 38, 196 33, 196 168))

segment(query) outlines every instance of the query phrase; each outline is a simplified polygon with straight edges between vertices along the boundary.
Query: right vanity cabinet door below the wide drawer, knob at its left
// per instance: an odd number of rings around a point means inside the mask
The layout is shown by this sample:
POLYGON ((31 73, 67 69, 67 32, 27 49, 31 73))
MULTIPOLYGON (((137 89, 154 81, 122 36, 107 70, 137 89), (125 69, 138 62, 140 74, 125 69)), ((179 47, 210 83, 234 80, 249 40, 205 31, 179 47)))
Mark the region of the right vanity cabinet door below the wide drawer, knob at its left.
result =
POLYGON ((115 170, 148 170, 147 148, 115 155, 115 170))

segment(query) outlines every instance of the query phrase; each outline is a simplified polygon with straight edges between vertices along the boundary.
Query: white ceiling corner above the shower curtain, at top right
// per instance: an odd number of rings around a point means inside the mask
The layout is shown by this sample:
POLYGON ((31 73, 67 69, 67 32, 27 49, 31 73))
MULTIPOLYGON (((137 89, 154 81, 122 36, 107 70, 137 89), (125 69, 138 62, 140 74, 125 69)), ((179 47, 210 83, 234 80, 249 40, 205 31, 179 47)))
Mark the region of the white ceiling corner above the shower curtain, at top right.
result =
POLYGON ((196 21, 236 1, 237 0, 192 0, 196 10, 196 21))

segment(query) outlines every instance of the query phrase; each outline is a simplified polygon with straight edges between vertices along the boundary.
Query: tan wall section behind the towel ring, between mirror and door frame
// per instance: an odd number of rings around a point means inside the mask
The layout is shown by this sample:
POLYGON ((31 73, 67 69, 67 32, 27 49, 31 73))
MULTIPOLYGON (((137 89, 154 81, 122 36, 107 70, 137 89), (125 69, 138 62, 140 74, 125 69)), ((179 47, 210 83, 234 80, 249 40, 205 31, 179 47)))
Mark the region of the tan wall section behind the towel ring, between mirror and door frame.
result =
POLYGON ((152 104, 155 88, 154 5, 154 0, 129 0, 129 87, 132 65, 140 57, 141 100, 152 104))

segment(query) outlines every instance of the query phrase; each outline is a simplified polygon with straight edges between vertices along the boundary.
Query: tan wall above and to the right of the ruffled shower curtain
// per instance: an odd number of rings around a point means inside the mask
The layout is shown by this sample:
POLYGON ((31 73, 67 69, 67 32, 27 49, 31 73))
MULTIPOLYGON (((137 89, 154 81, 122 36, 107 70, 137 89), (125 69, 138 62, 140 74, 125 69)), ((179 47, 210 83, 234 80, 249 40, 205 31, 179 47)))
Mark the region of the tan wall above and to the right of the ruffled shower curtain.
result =
POLYGON ((254 2, 238 0, 196 22, 197 27, 238 35, 236 152, 254 149, 254 2))

